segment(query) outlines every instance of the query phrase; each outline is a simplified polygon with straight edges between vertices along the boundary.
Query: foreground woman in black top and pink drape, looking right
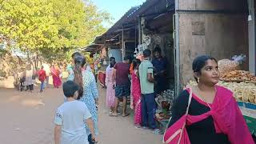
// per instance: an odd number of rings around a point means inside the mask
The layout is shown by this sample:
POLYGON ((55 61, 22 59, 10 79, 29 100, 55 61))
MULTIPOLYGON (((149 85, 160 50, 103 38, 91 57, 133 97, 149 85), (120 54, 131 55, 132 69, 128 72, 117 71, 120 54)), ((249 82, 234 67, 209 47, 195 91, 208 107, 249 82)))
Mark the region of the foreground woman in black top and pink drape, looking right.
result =
POLYGON ((172 107, 164 135, 169 144, 254 144, 230 90, 216 85, 218 63, 210 56, 193 62, 197 86, 183 90, 172 107))

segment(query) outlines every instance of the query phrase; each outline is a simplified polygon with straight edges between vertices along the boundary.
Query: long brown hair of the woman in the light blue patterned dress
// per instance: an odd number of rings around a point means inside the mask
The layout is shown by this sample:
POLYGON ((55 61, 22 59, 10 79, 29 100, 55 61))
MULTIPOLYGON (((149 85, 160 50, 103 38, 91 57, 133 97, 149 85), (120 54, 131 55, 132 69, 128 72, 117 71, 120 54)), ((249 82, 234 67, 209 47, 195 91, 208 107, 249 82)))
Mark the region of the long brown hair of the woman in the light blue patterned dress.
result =
POLYGON ((78 99, 82 97, 83 94, 83 81, 82 81, 82 67, 86 64, 86 58, 83 56, 78 56, 74 58, 74 82, 78 84, 78 99))

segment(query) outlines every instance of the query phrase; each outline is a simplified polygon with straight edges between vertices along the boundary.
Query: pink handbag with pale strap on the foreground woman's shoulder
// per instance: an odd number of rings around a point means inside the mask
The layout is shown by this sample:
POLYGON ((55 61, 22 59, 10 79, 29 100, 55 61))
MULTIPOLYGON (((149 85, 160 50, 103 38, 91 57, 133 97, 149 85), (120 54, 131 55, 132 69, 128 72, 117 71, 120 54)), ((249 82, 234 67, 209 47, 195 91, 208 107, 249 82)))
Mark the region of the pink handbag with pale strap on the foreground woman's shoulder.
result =
MULTIPOLYGON (((174 124, 169 128, 166 127, 165 133, 163 135, 163 143, 190 144, 190 138, 187 134, 185 126, 186 126, 186 116, 189 112, 189 107, 192 99, 192 89, 190 87, 187 87, 187 89, 190 89, 190 97, 189 97, 188 105, 186 107, 186 114, 182 115, 182 117, 179 118, 177 122, 174 122, 174 124)), ((170 119, 167 126, 169 126, 170 119)))

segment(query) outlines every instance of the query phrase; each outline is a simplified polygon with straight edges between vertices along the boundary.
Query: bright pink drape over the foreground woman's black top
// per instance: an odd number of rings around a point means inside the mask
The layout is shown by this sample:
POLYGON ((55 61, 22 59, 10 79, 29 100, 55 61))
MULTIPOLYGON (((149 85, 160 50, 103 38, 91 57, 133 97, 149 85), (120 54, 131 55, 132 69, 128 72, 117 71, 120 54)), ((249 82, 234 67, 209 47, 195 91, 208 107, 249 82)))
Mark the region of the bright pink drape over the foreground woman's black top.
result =
MULTIPOLYGON (((195 122, 202 121, 209 116, 214 118, 214 127, 216 133, 224 133, 228 136, 229 141, 232 144, 254 144, 254 140, 251 137, 250 130, 246 125, 245 119, 242 116, 241 111, 238 108, 238 104, 233 97, 233 93, 230 90, 222 86, 216 86, 217 92, 214 98, 214 102, 209 104, 211 110, 205 114, 201 115, 184 115, 182 118, 185 118, 186 126, 190 126, 195 122)), ((190 92, 189 89, 186 89, 190 92)), ((192 97, 200 102, 202 105, 208 106, 206 102, 203 102, 197 96, 192 94, 192 97)), ((178 120, 180 121, 182 118, 178 120)), ((166 130, 165 142, 170 139, 171 136, 175 135, 176 130, 179 130, 181 123, 174 123, 173 126, 170 126, 166 130)), ((190 144, 186 129, 182 130, 183 134, 180 139, 180 143, 190 144)), ((177 138, 176 136, 173 139, 177 138)), ((171 143, 171 142, 167 142, 171 143)))

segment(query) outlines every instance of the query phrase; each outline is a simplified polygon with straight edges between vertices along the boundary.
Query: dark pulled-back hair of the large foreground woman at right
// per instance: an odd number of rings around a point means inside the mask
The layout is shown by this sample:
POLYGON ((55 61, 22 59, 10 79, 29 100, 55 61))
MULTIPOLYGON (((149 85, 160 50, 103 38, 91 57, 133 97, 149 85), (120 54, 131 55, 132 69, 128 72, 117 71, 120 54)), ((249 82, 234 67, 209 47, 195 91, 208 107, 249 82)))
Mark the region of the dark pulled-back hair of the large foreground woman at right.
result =
MULTIPOLYGON (((201 70, 203 68, 203 66, 206 66, 206 62, 208 60, 214 60, 216 63, 217 60, 209 55, 201 55, 198 56, 197 58, 194 58, 193 64, 192 64, 192 70, 194 73, 198 73, 201 74, 201 70)), ((195 80, 198 82, 198 78, 195 78, 195 80)))

